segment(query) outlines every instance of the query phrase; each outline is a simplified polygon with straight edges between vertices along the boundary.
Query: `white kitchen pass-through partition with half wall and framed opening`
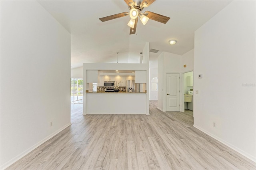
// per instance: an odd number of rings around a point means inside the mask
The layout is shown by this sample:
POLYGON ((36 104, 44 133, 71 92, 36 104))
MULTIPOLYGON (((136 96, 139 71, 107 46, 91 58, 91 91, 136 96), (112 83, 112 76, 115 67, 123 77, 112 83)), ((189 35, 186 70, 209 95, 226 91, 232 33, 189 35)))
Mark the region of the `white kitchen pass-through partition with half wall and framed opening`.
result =
POLYGON ((148 64, 84 63, 83 114, 149 114, 148 74, 148 64), (134 70, 135 83, 144 83, 146 90, 89 92, 89 84, 100 82, 99 70, 134 70))

